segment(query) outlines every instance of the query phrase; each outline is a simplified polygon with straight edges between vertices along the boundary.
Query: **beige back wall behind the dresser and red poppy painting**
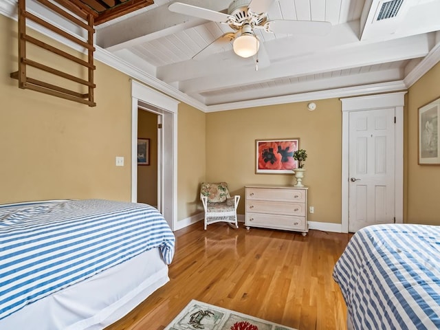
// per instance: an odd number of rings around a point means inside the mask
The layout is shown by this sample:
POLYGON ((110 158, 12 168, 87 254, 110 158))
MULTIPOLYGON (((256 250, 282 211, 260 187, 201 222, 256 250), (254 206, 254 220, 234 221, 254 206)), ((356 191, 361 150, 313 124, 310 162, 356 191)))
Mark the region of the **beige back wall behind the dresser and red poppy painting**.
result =
POLYGON ((310 221, 341 222, 341 129, 340 100, 316 101, 221 111, 206 115, 206 179, 227 181, 241 195, 244 214, 246 184, 294 184, 294 175, 255 174, 255 140, 299 137, 307 150, 305 179, 310 221))

